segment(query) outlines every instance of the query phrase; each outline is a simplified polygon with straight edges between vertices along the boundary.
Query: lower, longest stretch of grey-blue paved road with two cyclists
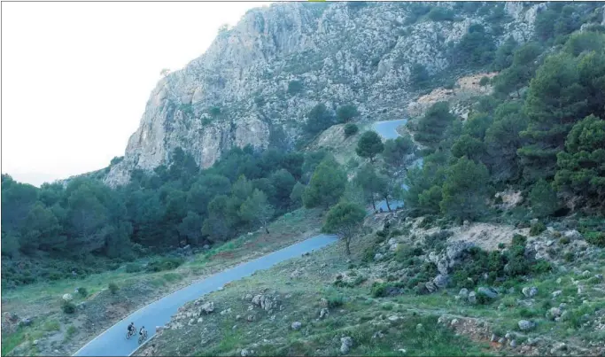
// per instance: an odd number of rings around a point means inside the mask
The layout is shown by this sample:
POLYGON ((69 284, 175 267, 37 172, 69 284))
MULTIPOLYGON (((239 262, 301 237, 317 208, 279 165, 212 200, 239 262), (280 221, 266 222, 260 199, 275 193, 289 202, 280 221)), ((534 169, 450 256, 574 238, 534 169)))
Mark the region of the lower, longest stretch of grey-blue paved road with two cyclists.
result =
POLYGON ((156 326, 167 324, 170 317, 176 314, 178 308, 188 301, 216 291, 226 283, 251 276, 257 270, 270 268, 283 260, 289 260, 302 253, 321 249, 336 241, 337 237, 330 235, 311 237, 258 259, 240 264, 237 267, 223 270, 221 273, 209 276, 198 283, 192 283, 128 315, 128 317, 114 324, 97 338, 81 347, 80 350, 74 353, 74 356, 128 356, 138 347, 136 341, 138 334, 129 340, 126 339, 128 323, 135 322, 137 329, 145 326, 145 329, 149 332, 149 338, 151 338, 155 335, 156 326))

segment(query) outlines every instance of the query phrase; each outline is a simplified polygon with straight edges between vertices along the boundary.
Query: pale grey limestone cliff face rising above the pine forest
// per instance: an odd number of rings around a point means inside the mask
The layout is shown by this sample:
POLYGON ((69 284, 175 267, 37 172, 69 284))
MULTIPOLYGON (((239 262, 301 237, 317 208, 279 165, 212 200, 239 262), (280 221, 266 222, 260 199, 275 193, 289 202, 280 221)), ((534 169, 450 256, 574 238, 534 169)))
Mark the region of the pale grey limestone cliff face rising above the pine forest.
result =
MULTIPOLYGON (((454 4, 433 6, 453 8, 454 4)), ((105 182, 128 182, 134 168, 167 163, 180 146, 209 167, 234 145, 264 148, 274 128, 292 142, 318 103, 331 110, 354 104, 360 120, 399 119, 410 100, 409 74, 450 64, 448 48, 469 26, 492 25, 483 15, 454 10, 454 21, 414 17, 406 3, 288 3, 253 9, 217 35, 205 54, 168 74, 151 92, 124 159, 105 182), (298 81, 299 88, 289 89, 298 81)), ((507 3, 497 36, 519 43, 545 4, 507 3)), ((501 10, 501 9, 500 9, 501 10)))

